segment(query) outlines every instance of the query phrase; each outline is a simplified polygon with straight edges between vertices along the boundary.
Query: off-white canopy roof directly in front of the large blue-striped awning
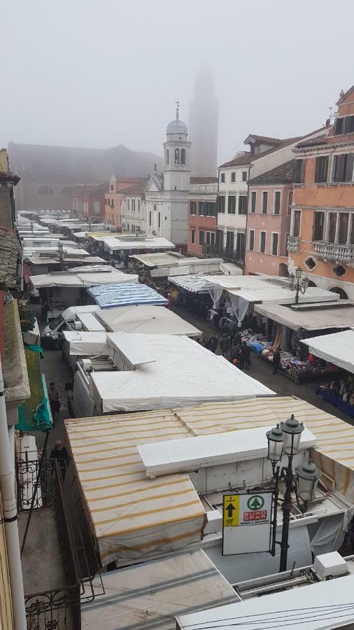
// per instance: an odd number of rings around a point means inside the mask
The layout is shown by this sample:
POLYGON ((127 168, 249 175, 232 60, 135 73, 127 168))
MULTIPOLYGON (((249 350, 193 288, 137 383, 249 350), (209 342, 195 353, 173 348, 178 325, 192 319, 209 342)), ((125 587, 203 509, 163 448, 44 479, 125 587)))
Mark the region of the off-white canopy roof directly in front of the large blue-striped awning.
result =
POLYGON ((144 335, 201 335, 201 331, 169 309, 151 304, 96 311, 95 317, 109 332, 139 332, 144 335))

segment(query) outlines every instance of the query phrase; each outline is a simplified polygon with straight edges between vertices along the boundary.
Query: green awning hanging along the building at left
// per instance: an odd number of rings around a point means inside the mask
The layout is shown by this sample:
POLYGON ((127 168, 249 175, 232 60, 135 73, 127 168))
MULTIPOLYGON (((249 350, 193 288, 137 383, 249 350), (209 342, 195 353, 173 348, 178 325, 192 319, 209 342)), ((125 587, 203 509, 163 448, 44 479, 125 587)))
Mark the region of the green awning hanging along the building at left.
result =
POLYGON ((48 391, 45 378, 41 372, 41 356, 43 351, 40 346, 25 344, 29 386, 31 398, 18 407, 17 429, 33 433, 33 431, 50 431, 52 428, 52 413, 48 400, 48 391))

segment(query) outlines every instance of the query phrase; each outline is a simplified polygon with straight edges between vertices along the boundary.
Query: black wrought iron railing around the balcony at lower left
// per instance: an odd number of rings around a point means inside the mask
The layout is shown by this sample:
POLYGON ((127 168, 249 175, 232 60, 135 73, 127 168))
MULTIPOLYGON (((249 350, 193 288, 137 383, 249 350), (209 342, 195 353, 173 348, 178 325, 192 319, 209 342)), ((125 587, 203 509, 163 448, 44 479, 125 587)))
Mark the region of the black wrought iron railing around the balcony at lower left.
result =
MULTIPOLYGON (((16 463, 19 511, 29 513, 38 470, 39 461, 36 460, 16 463)), ((97 595, 93 578, 100 575, 97 549, 72 461, 66 468, 63 462, 60 465, 57 460, 43 460, 34 507, 36 510, 55 507, 66 584, 62 588, 25 596, 27 629, 80 630, 80 605, 92 601, 97 595)), ((36 562, 36 558, 33 561, 36 562)), ((50 563, 50 558, 47 561, 50 563)), ((100 584, 99 594, 103 594, 101 580, 95 582, 100 584)))

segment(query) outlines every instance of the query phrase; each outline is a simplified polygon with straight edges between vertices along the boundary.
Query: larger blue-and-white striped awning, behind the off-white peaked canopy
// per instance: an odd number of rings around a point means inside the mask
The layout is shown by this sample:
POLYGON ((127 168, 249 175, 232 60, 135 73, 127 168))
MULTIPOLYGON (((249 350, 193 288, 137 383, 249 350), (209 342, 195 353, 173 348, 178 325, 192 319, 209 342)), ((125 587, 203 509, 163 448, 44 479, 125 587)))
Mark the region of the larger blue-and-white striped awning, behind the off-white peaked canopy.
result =
POLYGON ((105 286, 93 286, 88 290, 100 309, 113 309, 114 307, 130 306, 133 304, 155 304, 165 306, 166 297, 157 293, 147 284, 124 283, 106 284, 105 286))

